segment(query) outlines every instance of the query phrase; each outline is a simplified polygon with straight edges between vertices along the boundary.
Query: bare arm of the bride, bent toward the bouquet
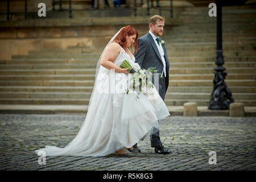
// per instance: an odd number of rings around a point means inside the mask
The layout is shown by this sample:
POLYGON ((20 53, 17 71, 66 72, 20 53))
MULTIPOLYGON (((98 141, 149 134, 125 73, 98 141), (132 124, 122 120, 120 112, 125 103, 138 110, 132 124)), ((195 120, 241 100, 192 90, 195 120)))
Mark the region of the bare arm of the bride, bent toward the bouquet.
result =
POLYGON ((114 64, 113 61, 117 59, 118 53, 121 51, 121 48, 117 44, 109 44, 106 47, 102 57, 101 57, 101 65, 107 69, 115 69, 115 72, 126 73, 129 68, 120 68, 118 65, 114 64))

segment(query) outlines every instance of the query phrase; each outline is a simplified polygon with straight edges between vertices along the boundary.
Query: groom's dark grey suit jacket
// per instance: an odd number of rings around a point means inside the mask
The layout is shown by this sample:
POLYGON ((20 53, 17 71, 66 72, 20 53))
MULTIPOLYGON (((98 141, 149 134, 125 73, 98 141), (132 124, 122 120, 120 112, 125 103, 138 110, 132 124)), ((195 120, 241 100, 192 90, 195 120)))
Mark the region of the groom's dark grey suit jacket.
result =
MULTIPOLYGON (((138 46, 139 46, 139 52, 135 52, 135 55, 134 55, 135 63, 138 63, 139 66, 143 69, 155 67, 156 69, 158 69, 158 73, 162 73, 163 62, 162 62, 160 53, 158 51, 158 48, 156 47, 155 41, 149 32, 138 39, 138 46)), ((163 50, 164 50, 164 59, 166 60, 166 78, 165 78, 165 86, 166 86, 165 92, 166 92, 169 85, 170 63, 167 57, 166 48, 163 47, 163 50)), ((154 83, 154 78, 152 78, 152 82, 154 83)))

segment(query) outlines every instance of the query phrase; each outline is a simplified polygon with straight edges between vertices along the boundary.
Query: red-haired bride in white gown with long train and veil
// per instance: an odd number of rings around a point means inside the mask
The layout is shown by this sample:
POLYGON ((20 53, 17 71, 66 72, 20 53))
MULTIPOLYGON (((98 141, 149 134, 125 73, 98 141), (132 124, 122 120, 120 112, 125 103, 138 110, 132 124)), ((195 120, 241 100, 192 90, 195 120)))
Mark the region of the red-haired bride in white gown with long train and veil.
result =
POLYGON ((36 154, 46 156, 127 156, 123 147, 133 145, 159 131, 158 119, 170 115, 155 86, 154 97, 126 93, 128 68, 120 68, 128 60, 135 71, 140 69, 128 48, 138 50, 138 32, 132 26, 121 28, 105 47, 96 67, 96 79, 88 112, 79 133, 64 148, 46 146, 36 154), (117 92, 118 90, 118 92, 117 92))

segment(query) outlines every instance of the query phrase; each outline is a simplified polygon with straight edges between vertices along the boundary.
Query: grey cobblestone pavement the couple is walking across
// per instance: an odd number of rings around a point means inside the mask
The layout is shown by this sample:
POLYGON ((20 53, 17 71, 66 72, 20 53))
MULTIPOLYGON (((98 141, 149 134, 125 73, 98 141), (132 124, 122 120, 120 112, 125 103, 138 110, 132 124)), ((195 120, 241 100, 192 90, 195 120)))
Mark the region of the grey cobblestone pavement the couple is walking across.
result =
POLYGON ((168 117, 160 121, 160 137, 169 155, 154 154, 150 141, 138 143, 130 158, 46 157, 38 163, 34 150, 65 147, 76 136, 85 115, 1 114, 1 170, 255 170, 256 118, 168 117), (209 164, 216 151, 217 164, 209 164))

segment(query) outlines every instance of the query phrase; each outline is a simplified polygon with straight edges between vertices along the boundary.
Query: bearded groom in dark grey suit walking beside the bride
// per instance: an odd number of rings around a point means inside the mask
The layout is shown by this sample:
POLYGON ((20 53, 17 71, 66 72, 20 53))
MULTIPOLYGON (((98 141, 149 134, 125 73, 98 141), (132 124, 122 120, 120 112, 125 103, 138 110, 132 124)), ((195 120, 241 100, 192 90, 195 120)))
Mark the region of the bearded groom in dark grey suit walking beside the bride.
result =
MULTIPOLYGON (((159 77, 159 95, 164 100, 169 85, 169 60, 167 57, 164 42, 159 38, 163 35, 164 18, 154 15, 149 20, 150 31, 138 39, 139 52, 135 53, 135 63, 141 68, 147 69, 155 67, 162 77, 159 77)), ((154 83, 154 80, 152 79, 154 83)), ((133 151, 141 151, 137 147, 137 143, 133 146, 133 151)), ((162 145, 159 137, 159 131, 151 135, 151 147, 155 147, 156 154, 170 154, 162 145)))

